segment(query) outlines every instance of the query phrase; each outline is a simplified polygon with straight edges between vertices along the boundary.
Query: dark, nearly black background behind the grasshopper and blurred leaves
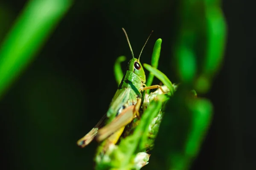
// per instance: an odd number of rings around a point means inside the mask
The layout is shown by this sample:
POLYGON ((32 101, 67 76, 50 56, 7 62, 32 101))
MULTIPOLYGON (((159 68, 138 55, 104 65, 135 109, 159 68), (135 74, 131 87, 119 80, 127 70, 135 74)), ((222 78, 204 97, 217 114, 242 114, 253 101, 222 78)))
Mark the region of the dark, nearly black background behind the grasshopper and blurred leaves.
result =
MULTIPOLYGON (((0 26, 0 41, 25 3, 1 3, 8 15, 0 26)), ((225 58, 207 95, 215 113, 193 170, 256 167, 255 7, 243 0, 222 4, 228 26, 225 58)), ((81 149, 76 141, 108 109, 117 88, 115 59, 131 57, 121 28, 126 29, 135 56, 154 30, 141 61, 150 63, 154 42, 162 38, 159 69, 175 82, 171 56, 176 6, 176 1, 152 0, 75 2, 34 62, 0 101, 1 166, 92 169, 96 142, 81 149)))

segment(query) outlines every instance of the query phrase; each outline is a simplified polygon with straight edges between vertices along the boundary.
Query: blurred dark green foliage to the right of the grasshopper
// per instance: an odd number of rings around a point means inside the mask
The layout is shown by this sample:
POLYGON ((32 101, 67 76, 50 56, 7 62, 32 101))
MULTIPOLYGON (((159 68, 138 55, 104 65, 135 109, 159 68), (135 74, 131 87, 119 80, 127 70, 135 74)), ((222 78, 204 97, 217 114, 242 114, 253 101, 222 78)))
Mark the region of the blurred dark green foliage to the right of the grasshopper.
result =
POLYGON ((226 24, 219 1, 183 0, 178 12, 173 61, 181 84, 167 105, 152 159, 163 169, 187 170, 200 151, 213 113, 208 99, 189 93, 195 89, 202 96, 210 90, 223 61, 226 24))

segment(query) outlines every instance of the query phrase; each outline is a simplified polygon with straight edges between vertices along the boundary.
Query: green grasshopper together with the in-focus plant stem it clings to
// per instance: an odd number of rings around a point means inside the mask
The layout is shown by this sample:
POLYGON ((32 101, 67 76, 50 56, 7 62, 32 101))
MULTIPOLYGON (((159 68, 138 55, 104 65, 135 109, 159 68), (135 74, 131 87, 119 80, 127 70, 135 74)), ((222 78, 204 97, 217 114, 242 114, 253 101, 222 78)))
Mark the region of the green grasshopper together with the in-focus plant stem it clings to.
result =
POLYGON ((140 169, 147 164, 149 155, 145 151, 152 148, 151 146, 162 118, 162 106, 175 91, 175 86, 172 85, 172 82, 165 74, 157 70, 162 40, 158 39, 154 45, 152 66, 144 64, 144 67, 150 71, 146 85, 145 72, 140 63, 140 56, 151 34, 146 40, 138 59, 136 59, 134 58, 128 36, 124 28, 122 29, 125 33, 133 58, 128 62, 127 71, 123 77, 120 76, 122 75, 120 62, 124 61, 124 57, 121 56, 117 59, 115 64, 115 76, 116 81, 121 83, 111 101, 110 107, 97 125, 77 142, 80 147, 85 147, 93 139, 96 139, 98 142, 103 141, 98 147, 95 159, 96 169, 99 170, 110 169, 110 167, 117 169, 121 167, 140 169), (154 76, 163 82, 164 86, 151 85, 154 76), (148 94, 149 91, 147 90, 156 88, 158 89, 157 91, 148 94), (140 122, 140 119, 142 122, 140 122), (123 133, 124 130, 125 133, 123 133), (143 133, 143 131, 145 133, 143 133), (118 150, 115 144, 119 141, 121 135, 125 138, 120 140, 120 150, 118 150), (131 142, 131 140, 138 141, 140 137, 142 140, 139 147, 140 149, 138 149, 138 142, 131 142), (131 143, 137 144, 130 146, 131 143), (121 155, 130 155, 130 158, 125 161, 122 159, 117 162, 113 160, 113 158, 122 158, 123 156, 121 155))

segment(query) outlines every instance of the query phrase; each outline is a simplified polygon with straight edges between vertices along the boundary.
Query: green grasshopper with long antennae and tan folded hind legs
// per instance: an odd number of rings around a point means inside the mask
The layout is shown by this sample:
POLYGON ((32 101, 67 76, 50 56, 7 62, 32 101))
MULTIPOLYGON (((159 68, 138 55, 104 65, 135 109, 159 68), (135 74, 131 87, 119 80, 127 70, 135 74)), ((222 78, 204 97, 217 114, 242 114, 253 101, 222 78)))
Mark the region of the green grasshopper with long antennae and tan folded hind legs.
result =
POLYGON ((125 29, 122 28, 122 30, 125 33, 133 58, 128 62, 127 71, 111 101, 107 113, 89 133, 78 140, 77 144, 80 147, 87 146, 93 139, 96 139, 98 142, 105 140, 107 143, 116 144, 122 135, 125 126, 135 117, 140 118, 139 110, 142 103, 142 92, 155 88, 160 88, 160 90, 163 91, 160 85, 145 85, 145 72, 140 63, 140 56, 143 48, 153 31, 148 36, 137 59, 134 57, 125 29))

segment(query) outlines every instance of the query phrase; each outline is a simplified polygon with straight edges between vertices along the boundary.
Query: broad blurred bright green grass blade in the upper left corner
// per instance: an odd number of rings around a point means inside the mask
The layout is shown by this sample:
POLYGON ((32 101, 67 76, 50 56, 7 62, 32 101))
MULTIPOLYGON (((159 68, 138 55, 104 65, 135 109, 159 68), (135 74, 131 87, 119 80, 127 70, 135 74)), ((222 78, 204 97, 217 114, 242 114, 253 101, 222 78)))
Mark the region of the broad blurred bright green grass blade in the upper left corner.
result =
POLYGON ((72 0, 30 0, 0 47, 0 97, 31 62, 72 0))

